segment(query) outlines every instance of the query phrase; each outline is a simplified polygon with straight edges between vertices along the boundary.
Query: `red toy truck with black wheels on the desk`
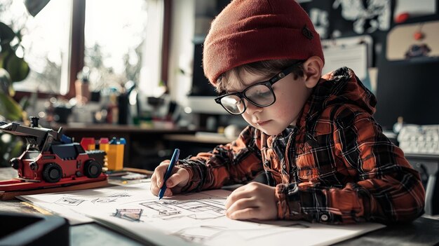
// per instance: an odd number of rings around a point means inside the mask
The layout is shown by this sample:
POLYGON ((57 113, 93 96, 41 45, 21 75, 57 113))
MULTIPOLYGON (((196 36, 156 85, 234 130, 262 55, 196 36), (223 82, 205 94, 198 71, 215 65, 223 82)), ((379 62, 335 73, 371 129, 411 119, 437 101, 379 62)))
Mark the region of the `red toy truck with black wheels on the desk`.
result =
POLYGON ((31 117, 31 126, 0 121, 0 130, 25 137, 27 149, 11 165, 18 178, 0 182, 0 191, 66 186, 107 179, 102 173, 105 151, 84 151, 81 144, 56 132, 38 127, 39 118, 31 117))

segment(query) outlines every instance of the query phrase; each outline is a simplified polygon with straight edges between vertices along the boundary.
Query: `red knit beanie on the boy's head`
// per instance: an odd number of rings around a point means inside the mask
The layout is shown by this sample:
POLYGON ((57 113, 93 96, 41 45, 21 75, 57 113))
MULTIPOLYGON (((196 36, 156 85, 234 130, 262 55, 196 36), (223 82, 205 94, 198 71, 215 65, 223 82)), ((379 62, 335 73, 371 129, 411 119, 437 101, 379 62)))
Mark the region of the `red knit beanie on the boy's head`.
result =
POLYGON ((217 15, 203 46, 203 69, 215 85, 234 67, 262 60, 306 60, 323 50, 295 0, 234 0, 217 15))

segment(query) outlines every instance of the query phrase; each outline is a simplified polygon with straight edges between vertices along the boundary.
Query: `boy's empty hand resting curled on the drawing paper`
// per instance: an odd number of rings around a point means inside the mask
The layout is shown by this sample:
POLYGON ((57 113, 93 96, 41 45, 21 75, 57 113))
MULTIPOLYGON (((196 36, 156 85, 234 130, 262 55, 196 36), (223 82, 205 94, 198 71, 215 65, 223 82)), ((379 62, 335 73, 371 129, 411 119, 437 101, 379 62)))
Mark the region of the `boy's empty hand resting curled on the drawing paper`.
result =
POLYGON ((251 182, 241 186, 226 200, 230 219, 277 219, 276 188, 251 182))

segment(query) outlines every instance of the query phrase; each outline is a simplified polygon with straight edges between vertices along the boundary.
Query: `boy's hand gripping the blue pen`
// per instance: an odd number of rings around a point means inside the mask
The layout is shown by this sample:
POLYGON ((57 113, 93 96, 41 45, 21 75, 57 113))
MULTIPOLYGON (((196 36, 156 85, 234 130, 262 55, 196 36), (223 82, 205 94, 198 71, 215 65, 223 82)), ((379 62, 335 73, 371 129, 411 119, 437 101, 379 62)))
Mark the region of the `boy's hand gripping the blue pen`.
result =
MULTIPOLYGON (((163 160, 160 165, 154 170, 151 177, 151 193, 158 196, 161 186, 163 186, 163 179, 165 178, 166 170, 170 160, 163 160)), ((166 181, 166 191, 164 196, 173 196, 173 193, 180 193, 182 188, 189 181, 189 172, 184 168, 174 167, 173 173, 166 181)))

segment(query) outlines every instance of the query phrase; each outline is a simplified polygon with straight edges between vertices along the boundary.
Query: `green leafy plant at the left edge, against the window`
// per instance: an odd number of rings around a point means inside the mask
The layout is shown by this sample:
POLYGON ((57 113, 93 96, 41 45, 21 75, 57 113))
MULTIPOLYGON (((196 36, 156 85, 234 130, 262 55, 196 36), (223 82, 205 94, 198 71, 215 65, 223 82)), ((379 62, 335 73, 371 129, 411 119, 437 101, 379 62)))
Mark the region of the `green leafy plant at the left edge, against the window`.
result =
MULTIPOLYGON (((48 4, 49 0, 26 0, 25 6, 35 16, 48 4)), ((22 81, 29 74, 29 65, 23 57, 16 54, 21 46, 20 30, 14 32, 11 27, 0 22, 0 121, 25 121, 26 99, 16 102, 13 82, 22 81)), ((24 143, 22 139, 0 132, 0 166, 8 166, 9 159, 20 155, 24 143)))

